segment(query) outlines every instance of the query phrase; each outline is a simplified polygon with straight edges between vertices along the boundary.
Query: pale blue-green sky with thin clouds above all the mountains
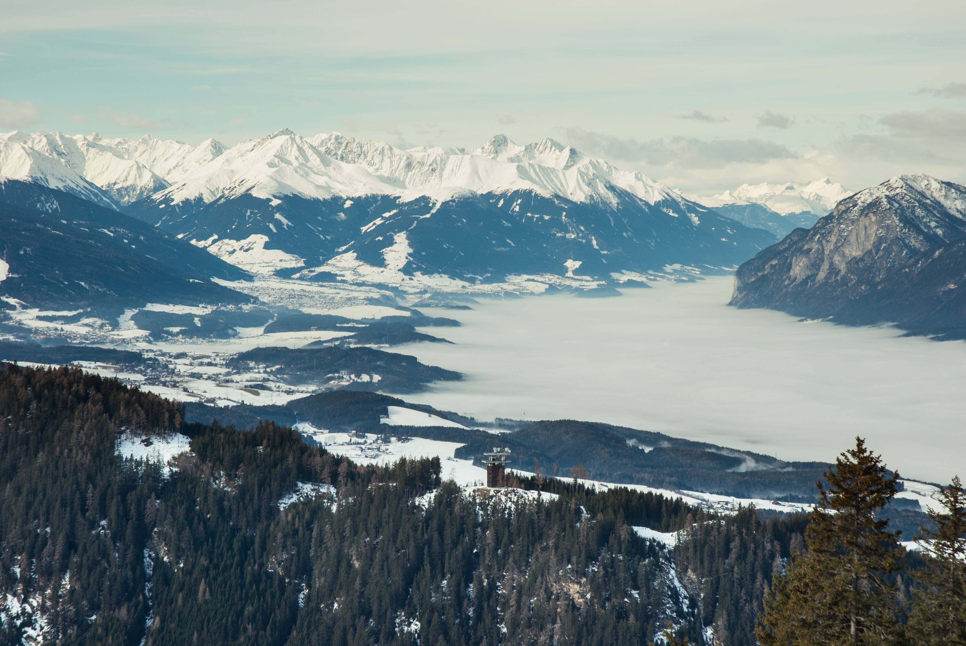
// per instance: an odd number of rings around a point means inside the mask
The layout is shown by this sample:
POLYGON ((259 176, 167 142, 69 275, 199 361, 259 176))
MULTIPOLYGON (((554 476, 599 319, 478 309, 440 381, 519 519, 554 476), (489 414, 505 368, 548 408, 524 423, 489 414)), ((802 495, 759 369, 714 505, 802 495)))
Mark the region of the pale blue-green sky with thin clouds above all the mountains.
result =
POLYGON ((966 3, 0 0, 0 131, 551 137, 686 192, 966 183, 966 3))

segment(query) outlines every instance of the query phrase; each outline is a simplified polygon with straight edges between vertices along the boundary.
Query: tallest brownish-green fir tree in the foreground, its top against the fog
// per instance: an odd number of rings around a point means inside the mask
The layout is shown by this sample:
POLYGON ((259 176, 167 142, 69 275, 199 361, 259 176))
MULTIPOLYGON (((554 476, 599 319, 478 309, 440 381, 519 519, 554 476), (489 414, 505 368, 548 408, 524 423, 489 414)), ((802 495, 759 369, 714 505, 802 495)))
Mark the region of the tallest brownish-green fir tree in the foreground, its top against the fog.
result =
POLYGON ((755 635, 762 646, 903 643, 896 588, 888 576, 905 549, 877 515, 893 499, 898 474, 866 442, 842 453, 818 484, 808 550, 776 574, 755 635))

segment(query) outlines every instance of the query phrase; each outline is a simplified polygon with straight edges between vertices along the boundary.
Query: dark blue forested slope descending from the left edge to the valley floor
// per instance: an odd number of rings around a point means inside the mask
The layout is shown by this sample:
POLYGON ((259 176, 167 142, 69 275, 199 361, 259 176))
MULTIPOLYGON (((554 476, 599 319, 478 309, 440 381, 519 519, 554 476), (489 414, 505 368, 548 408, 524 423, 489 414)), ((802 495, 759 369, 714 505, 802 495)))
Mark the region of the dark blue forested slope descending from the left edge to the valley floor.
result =
POLYGON ((116 316, 148 302, 251 300, 212 282, 246 276, 238 267, 145 222, 37 183, 0 181, 0 241, 0 295, 28 307, 93 307, 116 316))

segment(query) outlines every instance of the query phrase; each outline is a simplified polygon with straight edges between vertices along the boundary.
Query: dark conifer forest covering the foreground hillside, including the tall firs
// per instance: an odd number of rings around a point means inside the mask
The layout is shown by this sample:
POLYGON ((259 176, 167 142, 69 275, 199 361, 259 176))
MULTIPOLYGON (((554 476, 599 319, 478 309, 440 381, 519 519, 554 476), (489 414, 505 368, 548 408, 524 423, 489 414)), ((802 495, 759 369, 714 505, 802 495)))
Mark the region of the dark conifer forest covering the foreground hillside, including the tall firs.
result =
POLYGON ((4 644, 966 643, 958 482, 937 548, 907 553, 875 516, 895 476, 861 445, 820 492, 837 514, 765 519, 539 474, 465 491, 438 458, 189 424, 75 368, 6 366, 0 416, 4 644), (170 466, 116 451, 176 433, 170 466))

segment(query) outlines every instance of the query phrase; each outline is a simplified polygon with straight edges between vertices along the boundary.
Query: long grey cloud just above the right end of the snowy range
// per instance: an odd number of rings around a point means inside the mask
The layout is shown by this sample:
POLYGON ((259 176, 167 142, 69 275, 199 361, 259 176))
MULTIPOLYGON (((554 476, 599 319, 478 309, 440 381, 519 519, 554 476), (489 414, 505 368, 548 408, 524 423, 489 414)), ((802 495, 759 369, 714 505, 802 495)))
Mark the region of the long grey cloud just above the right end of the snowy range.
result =
POLYGON ((581 127, 566 130, 570 142, 585 153, 611 159, 644 162, 668 168, 718 169, 732 163, 763 164, 772 159, 794 159, 799 155, 784 146, 761 139, 714 139, 670 137, 639 142, 620 139, 581 127))

